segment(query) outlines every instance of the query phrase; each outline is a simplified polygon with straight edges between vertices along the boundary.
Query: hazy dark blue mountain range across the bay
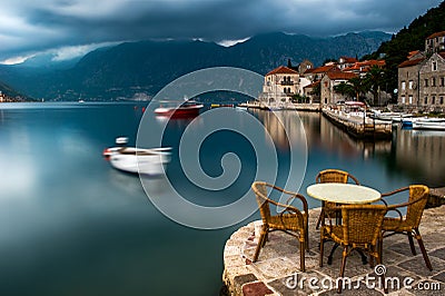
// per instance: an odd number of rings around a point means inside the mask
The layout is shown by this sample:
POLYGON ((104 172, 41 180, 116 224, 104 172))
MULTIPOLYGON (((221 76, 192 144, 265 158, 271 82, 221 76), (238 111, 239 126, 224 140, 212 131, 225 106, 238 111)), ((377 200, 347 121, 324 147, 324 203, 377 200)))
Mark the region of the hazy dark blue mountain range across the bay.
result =
POLYGON ((3 65, 0 81, 36 99, 131 99, 154 96, 170 81, 198 69, 238 67, 265 75, 287 65, 288 59, 294 66, 305 59, 320 66, 327 59, 372 53, 390 37, 378 31, 330 38, 273 32, 231 47, 198 40, 125 42, 63 63, 47 58, 3 65))

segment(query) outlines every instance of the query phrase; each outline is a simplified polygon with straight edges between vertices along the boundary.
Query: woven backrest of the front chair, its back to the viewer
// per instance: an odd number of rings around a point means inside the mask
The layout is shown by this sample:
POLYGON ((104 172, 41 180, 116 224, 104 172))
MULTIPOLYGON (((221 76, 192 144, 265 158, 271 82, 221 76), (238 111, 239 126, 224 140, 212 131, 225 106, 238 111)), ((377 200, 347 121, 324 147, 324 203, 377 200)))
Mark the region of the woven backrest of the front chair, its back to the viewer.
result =
POLYGON ((342 227, 345 244, 373 244, 382 231, 387 208, 384 205, 342 206, 342 227))

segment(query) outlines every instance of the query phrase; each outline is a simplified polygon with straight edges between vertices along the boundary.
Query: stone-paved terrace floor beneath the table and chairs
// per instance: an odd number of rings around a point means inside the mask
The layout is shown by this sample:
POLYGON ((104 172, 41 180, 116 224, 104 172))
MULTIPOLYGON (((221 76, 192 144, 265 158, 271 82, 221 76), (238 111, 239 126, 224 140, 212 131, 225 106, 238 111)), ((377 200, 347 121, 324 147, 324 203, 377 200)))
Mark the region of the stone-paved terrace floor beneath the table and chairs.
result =
MULTIPOLYGON (((315 229, 318 215, 319 209, 309 211, 309 251, 305 256, 305 273, 299 270, 299 243, 293 236, 283 231, 270 233, 258 260, 251 263, 260 221, 250 223, 234 233, 224 250, 222 279, 228 293, 246 296, 336 294, 342 248, 335 251, 333 264, 327 265, 333 243, 326 243, 324 266, 319 267, 319 231, 315 229)), ((388 295, 445 295, 445 206, 426 209, 419 230, 433 272, 426 268, 416 240, 417 255, 414 256, 406 236, 385 238, 383 265, 389 284, 388 295), (407 284, 404 285, 404 280, 407 284)), ((363 265, 356 251, 347 258, 345 277, 352 279, 352 285, 343 290, 343 295, 383 295, 374 268, 369 264, 363 265)))

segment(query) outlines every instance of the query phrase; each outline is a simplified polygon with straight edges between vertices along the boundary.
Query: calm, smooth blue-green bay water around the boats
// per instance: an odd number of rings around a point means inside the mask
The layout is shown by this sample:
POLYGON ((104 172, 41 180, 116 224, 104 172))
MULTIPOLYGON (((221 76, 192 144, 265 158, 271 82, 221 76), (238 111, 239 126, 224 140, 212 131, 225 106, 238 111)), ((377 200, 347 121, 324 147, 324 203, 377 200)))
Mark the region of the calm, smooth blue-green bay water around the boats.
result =
MULTIPOLYGON (((142 107, 136 102, 0 107, 1 295, 218 295, 225 241, 259 216, 216 230, 189 228, 164 216, 137 176, 112 169, 101 152, 118 136, 135 144, 142 107)), ((291 151, 283 127, 271 112, 251 115, 274 140, 277 182, 285 185, 291 151)), ((286 127, 290 141, 298 139, 299 129, 291 128, 296 112, 279 117, 290 125, 286 127)), ((444 186, 441 132, 398 129, 393 141, 363 142, 318 114, 299 117, 307 146, 297 148, 307 147, 307 164, 301 159, 296 164, 304 171, 300 193, 305 195, 325 168, 348 170, 380 191, 414 182, 444 186)), ((168 200, 166 180, 202 206, 227 205, 249 191, 258 165, 254 155, 263 148, 229 130, 206 138, 198 157, 207 175, 222 172, 221 157, 228 152, 238 155, 243 164, 233 186, 209 194, 192 186, 180 169, 178 146, 189 126, 188 120, 167 125, 162 142, 174 147, 172 161, 165 179, 145 180, 151 193, 171 208, 175 203, 168 200)), ((192 126, 191 134, 205 126, 207 121, 192 126)), ((297 180, 295 186, 299 187, 297 180)), ((309 197, 308 201, 319 206, 309 197)))

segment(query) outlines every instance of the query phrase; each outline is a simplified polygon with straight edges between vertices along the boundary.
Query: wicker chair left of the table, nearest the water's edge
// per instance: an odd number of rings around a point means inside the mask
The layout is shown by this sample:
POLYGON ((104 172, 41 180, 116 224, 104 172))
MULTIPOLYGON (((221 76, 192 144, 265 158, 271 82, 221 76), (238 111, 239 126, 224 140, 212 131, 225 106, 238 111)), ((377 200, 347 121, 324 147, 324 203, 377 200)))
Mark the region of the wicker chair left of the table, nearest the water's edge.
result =
POLYGON ((263 219, 261 233, 253 262, 255 263, 258 259, 259 250, 265 246, 266 240, 268 239, 268 233, 274 230, 283 230, 298 238, 300 250, 300 269, 301 272, 305 272, 305 248, 309 248, 307 231, 308 207, 305 197, 300 194, 290 193, 264 181, 255 181, 251 185, 251 189, 256 195, 259 213, 263 219), (278 194, 279 196, 289 196, 286 203, 287 205, 283 205, 270 199, 269 197, 273 194, 278 194), (293 199, 299 199, 301 201, 304 211, 300 211, 298 208, 288 205, 293 199), (283 207, 284 210, 278 215, 271 215, 270 206, 283 207))

